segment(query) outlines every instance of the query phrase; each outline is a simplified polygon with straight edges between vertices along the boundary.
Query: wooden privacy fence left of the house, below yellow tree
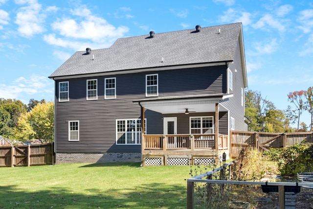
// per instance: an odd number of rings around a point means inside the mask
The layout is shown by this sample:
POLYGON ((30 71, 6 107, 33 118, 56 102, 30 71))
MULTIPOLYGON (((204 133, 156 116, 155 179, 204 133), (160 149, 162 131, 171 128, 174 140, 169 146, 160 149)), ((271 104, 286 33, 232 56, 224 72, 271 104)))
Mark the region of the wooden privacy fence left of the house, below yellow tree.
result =
POLYGON ((0 166, 54 164, 54 143, 0 147, 0 166))

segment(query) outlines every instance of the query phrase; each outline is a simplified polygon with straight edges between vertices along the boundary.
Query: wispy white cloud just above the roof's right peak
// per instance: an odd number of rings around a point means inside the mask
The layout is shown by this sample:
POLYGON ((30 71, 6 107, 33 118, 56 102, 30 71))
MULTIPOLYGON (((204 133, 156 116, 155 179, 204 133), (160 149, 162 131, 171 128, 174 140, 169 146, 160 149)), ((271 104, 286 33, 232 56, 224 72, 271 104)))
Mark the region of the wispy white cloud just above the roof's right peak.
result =
POLYGON ((224 15, 219 16, 219 21, 222 23, 238 23, 241 22, 243 25, 251 23, 251 14, 248 12, 238 11, 232 8, 227 9, 224 15))

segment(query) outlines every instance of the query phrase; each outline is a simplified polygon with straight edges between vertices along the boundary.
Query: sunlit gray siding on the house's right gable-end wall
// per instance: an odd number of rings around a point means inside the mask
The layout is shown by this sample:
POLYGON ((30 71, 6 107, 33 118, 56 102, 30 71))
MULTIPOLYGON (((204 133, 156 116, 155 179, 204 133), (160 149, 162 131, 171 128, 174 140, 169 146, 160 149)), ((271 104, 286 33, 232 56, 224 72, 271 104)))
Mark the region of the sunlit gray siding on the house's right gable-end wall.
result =
MULTIPOLYGON (((243 70, 241 64, 240 46, 239 41, 236 47, 235 59, 233 64, 229 64, 229 69, 233 74, 233 89, 229 90, 229 93, 233 93, 234 96, 222 102, 222 105, 229 110, 230 116, 235 119, 235 130, 247 131, 247 125, 245 123, 245 88, 243 79, 243 70), (244 104, 241 102, 241 89, 244 90, 244 104)), ((229 123, 230 130, 230 123, 229 123)))

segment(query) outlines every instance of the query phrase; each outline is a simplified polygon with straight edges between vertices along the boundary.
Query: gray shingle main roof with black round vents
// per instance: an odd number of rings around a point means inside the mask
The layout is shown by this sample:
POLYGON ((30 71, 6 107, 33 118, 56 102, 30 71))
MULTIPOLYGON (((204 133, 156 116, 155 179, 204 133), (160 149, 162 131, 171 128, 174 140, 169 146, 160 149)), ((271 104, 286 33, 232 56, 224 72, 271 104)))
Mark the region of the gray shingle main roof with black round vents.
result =
POLYGON ((120 38, 110 48, 77 51, 49 77, 233 61, 241 31, 232 23, 120 38))

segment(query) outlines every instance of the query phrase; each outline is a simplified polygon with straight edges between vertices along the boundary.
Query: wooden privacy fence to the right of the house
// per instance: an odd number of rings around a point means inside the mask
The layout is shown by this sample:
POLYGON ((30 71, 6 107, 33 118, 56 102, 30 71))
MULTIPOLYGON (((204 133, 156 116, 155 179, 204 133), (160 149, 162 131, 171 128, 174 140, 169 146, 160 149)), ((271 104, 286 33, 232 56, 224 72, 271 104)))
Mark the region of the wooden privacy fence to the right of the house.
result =
POLYGON ((304 139, 313 142, 313 132, 266 133, 249 131, 232 131, 230 133, 231 158, 239 156, 240 148, 253 146, 259 151, 269 148, 289 147, 301 143, 304 139))

